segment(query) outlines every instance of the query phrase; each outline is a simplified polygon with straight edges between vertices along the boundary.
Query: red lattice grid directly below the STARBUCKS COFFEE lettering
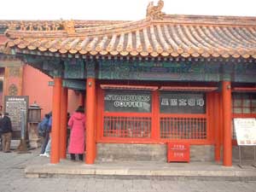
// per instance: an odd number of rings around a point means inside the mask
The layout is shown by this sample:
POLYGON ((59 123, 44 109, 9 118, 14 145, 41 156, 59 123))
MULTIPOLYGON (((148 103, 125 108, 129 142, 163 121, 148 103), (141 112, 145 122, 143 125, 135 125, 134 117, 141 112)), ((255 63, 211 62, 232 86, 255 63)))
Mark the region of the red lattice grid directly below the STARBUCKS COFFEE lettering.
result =
POLYGON ((150 138, 150 117, 104 117, 103 137, 150 138))

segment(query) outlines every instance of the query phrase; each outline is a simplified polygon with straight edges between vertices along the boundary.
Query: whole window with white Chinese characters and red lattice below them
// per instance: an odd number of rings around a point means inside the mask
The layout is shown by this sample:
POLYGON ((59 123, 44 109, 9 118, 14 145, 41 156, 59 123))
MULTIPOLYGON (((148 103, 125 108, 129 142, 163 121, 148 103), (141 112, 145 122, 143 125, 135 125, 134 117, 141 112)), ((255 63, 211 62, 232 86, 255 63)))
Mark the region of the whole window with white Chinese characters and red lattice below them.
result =
POLYGON ((160 137, 207 139, 206 94, 194 91, 162 91, 160 137))

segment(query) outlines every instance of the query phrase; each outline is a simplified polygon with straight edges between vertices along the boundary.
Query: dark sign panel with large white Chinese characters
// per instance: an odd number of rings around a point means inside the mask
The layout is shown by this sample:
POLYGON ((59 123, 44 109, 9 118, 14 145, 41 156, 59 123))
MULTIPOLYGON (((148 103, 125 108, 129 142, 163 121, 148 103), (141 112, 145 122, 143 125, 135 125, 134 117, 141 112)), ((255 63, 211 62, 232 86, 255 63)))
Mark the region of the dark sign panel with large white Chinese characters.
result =
POLYGON ((205 94, 162 92, 160 113, 206 113, 205 94))

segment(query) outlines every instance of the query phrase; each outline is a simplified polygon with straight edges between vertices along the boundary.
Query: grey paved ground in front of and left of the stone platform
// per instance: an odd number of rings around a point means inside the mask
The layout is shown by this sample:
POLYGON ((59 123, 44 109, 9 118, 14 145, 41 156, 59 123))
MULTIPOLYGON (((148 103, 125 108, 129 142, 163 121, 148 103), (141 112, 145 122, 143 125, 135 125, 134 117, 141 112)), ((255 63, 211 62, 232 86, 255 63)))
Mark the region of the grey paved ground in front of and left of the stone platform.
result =
POLYGON ((34 161, 48 163, 49 159, 32 154, 0 152, 0 192, 256 192, 256 182, 118 179, 84 177, 26 178, 24 168, 34 161))

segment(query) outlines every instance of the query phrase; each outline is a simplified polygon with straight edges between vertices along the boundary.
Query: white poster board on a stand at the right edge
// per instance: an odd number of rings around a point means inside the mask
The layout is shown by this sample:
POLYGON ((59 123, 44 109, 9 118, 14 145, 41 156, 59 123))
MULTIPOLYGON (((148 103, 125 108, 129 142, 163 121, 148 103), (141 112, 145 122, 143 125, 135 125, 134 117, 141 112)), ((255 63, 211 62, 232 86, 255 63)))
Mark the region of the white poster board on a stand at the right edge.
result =
POLYGON ((234 119, 236 140, 238 145, 256 145, 256 119, 234 119))

